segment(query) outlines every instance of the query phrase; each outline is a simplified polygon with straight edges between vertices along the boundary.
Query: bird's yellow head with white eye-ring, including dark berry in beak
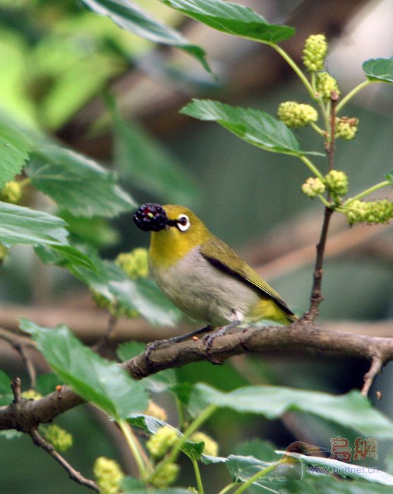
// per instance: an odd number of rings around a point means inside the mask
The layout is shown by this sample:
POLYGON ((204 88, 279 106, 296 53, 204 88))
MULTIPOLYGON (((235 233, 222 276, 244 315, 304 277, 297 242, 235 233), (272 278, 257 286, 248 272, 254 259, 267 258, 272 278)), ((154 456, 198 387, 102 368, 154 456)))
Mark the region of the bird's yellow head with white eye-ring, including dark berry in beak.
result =
POLYGON ((192 248, 211 237, 200 219, 186 207, 178 205, 143 204, 133 217, 136 226, 151 231, 152 261, 172 265, 192 248))

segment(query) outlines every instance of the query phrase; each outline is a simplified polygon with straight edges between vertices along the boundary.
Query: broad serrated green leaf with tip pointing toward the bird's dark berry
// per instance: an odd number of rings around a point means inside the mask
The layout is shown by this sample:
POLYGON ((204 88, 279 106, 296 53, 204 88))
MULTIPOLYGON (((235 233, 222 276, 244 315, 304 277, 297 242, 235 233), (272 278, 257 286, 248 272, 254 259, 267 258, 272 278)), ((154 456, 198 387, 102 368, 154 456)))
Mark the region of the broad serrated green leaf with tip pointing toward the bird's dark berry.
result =
POLYGON ((35 187, 75 216, 112 217, 135 206, 116 185, 115 174, 62 147, 40 147, 25 171, 35 187))

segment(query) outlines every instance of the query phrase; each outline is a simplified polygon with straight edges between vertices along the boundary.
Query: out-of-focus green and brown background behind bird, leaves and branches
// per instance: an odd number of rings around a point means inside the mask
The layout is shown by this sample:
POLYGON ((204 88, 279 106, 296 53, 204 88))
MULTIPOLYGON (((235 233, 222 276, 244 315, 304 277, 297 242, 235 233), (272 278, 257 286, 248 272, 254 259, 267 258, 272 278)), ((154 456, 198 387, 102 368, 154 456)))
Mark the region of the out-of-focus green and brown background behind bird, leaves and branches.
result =
MULTIPOLYGON (((304 8, 302 2, 289 0, 241 3, 252 6, 270 21, 288 23, 295 8, 304 8)), ((308 3, 321 11, 329 4, 308 3)), ((163 22, 177 25, 190 40, 201 44, 219 76, 218 82, 191 57, 157 49, 87 11, 78 1, 3 0, 1 112, 30 128, 46 131, 114 169, 121 176, 121 185, 131 191, 138 203, 181 202, 191 207, 214 234, 238 249, 261 273, 265 267, 268 281, 297 313, 303 313, 308 308, 313 255, 310 251, 302 255, 301 249, 315 245, 322 223, 321 204, 300 193, 308 177, 307 169, 294 158, 258 150, 214 123, 192 121, 180 117, 178 111, 191 97, 203 96, 275 114, 283 100, 306 102, 305 92, 289 73, 267 63, 263 58, 265 47, 185 23, 159 2, 138 4, 150 8, 163 22), (122 115, 117 124, 116 115, 107 111, 102 97, 108 88, 122 115), (145 169, 150 170, 150 181, 140 179, 145 169), (156 173, 167 176, 167 188, 155 183, 156 173), (287 264, 286 256, 294 251, 299 251, 298 258, 287 264), (272 269, 273 261, 279 267, 277 271, 272 269)), ((362 80, 364 59, 392 56, 392 2, 358 4, 350 16, 347 14, 350 22, 337 11, 335 28, 333 21, 324 26, 317 17, 315 25, 308 19, 307 32, 299 30, 294 41, 296 53, 296 43, 301 44, 307 35, 327 32, 328 39, 331 35, 328 66, 339 77, 339 83, 342 81, 343 92, 362 80)), ((355 140, 338 143, 337 168, 349 174, 351 194, 381 181, 392 169, 392 110, 392 88, 384 85, 370 88, 347 107, 349 116, 360 119, 359 131, 355 140)), ((315 133, 298 132, 298 138, 308 149, 322 150, 315 133)), ((376 197, 392 200, 392 192, 384 190, 376 197)), ((32 196, 30 205, 54 208, 40 195, 32 196)), ((131 214, 111 224, 99 221, 83 228, 87 231, 92 226, 100 231, 99 247, 107 257, 135 246, 147 246, 147 236, 133 227, 131 214)), ((325 263, 320 325, 356 332, 359 322, 368 323, 361 326, 362 330, 366 327, 370 334, 392 336, 392 227, 360 225, 349 229, 337 218, 332 235, 338 237, 325 263), (370 234, 370 229, 375 233, 370 234)), ((82 306, 91 305, 91 311, 95 311, 90 295, 79 282, 58 268, 44 267, 27 248, 13 248, 1 275, 3 326, 15 325, 9 322, 10 314, 16 311, 15 304, 18 310, 36 307, 41 313, 48 306, 78 313, 82 306)), ((103 320, 106 317, 102 315, 103 320)), ((57 322, 61 321, 54 324, 57 322)), ((132 321, 128 335, 133 338, 132 321)), ((146 337, 149 340, 148 332, 146 337)), ((4 370, 25 378, 23 382, 27 383, 17 354, 5 343, 1 343, 0 352, 4 370)), ((226 390, 247 383, 272 383, 340 393, 361 387, 367 368, 368 363, 358 359, 283 351, 236 357, 221 367, 193 364, 177 373, 180 380, 205 380, 226 390)), ((371 393, 374 399, 376 390, 382 392, 382 402, 376 406, 391 418, 392 372, 389 364, 371 393)), ((157 399, 174 415, 169 397, 157 399)), ((116 431, 105 421, 86 406, 59 418, 59 425, 73 433, 75 440, 65 456, 85 476, 92 476, 97 454, 119 459, 126 470, 132 468, 121 440, 114 435, 116 431)), ((284 421, 268 422, 223 411, 214 417, 208 432, 219 440, 222 453, 229 454, 234 452, 234 445, 253 437, 272 440, 279 447, 295 439, 329 447, 329 438, 342 431, 327 423, 322 427, 320 421, 304 415, 287 414, 284 421)), ((1 493, 52 493, 54 486, 59 492, 85 490, 70 482, 60 466, 32 445, 30 438, 9 442, 0 438, 0 442, 1 493)), ((381 468, 385 468, 384 451, 388 446, 380 445, 381 468)), ((187 485, 186 476, 181 480, 187 485)), ((219 481, 213 478, 211 482, 212 489, 219 481)))

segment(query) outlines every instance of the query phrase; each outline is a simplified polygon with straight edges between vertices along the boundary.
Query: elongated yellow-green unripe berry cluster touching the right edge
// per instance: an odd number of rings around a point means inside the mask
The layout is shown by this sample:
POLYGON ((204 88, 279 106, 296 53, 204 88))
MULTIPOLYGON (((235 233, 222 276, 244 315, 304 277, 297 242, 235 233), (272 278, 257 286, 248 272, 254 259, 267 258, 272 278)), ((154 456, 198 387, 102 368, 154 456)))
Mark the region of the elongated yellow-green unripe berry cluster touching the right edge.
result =
POLYGON ((387 223, 393 218, 393 203, 387 199, 363 202, 354 200, 346 210, 349 224, 387 223))

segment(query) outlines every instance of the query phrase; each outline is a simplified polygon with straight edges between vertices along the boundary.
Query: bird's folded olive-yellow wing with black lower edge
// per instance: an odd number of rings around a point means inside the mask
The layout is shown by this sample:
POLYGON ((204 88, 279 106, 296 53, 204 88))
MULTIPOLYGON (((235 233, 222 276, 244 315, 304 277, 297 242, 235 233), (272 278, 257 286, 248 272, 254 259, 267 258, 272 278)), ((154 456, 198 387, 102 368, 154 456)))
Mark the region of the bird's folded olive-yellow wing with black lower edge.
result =
POLYGON ((236 277, 248 287, 255 289, 260 295, 274 300, 288 315, 294 315, 282 298, 265 282, 235 251, 222 240, 213 237, 200 247, 200 253, 217 269, 236 277), (222 261, 225 259, 225 262, 222 261))

